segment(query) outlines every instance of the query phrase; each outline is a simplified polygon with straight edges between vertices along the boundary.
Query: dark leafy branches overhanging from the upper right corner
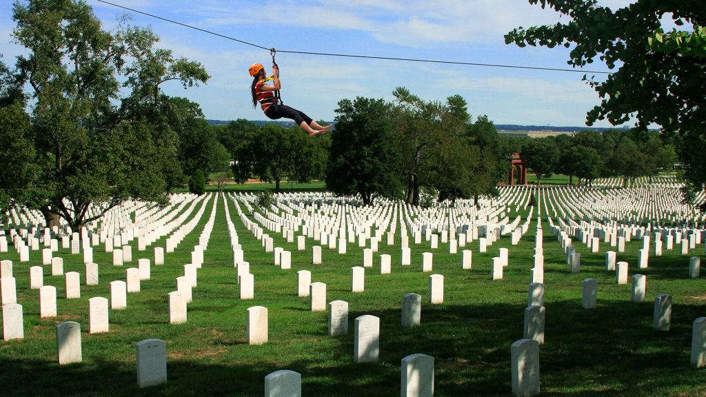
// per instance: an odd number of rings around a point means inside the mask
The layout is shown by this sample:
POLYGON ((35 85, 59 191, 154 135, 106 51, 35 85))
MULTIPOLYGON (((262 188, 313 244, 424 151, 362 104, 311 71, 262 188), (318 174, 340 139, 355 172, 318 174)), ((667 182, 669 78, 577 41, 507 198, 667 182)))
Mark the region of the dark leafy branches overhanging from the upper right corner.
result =
MULTIPOLYGON (((588 78, 602 98, 587 124, 607 119, 617 125, 638 119, 683 137, 677 148, 688 165, 693 191, 706 186, 706 8, 700 1, 637 0, 611 11, 595 0, 530 0, 566 16, 566 23, 517 28, 505 42, 520 47, 572 47, 568 64, 585 66, 599 57, 614 69, 605 81, 588 78), (671 15, 681 30, 664 32, 660 18, 671 15)), ((585 76, 586 78, 586 76, 585 76)), ((703 204, 706 209, 706 203, 703 204)))

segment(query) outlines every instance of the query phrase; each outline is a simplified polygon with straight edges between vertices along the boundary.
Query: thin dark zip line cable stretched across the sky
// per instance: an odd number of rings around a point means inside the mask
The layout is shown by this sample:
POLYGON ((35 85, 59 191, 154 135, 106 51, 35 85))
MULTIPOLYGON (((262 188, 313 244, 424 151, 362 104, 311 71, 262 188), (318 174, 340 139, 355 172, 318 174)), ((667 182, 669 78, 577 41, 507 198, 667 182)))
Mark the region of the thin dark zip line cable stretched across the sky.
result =
MULTIPOLYGON (((177 22, 176 20, 171 20, 168 18, 163 18, 161 16, 156 16, 151 13, 145 13, 144 11, 139 11, 134 8, 128 8, 126 6, 121 6, 119 4, 114 4, 111 3, 110 1, 105 1, 105 0, 95 0, 99 1, 100 3, 104 4, 109 4, 114 7, 118 8, 123 8, 128 11, 132 11, 133 13, 139 13, 145 16, 150 16, 152 18, 157 18, 160 20, 167 21, 169 23, 174 23, 176 25, 181 25, 184 26, 185 28, 190 28, 194 30, 198 30, 200 32, 208 33, 209 35, 215 35, 218 37, 222 37, 227 40, 233 40, 235 42, 239 42, 245 45, 250 45, 252 47, 257 47, 259 49, 265 49, 267 51, 271 51, 272 48, 268 47, 263 47, 261 45, 256 45, 251 42, 246 42, 244 40, 238 40, 234 37, 230 37, 227 35, 222 35, 217 32, 212 32, 211 30, 205 30, 201 28, 197 28, 196 26, 193 25, 187 25, 186 23, 181 23, 177 22)), ((568 72, 574 72, 574 73, 597 73, 597 74, 611 74, 612 72, 609 71, 586 71, 586 70, 577 70, 577 69, 560 69, 560 68, 542 68, 539 66, 520 66, 520 65, 505 65, 505 64, 481 64, 477 62, 461 62, 461 61, 440 61, 436 59, 417 59, 417 58, 396 58, 396 57, 375 57, 371 55, 354 55, 354 54, 336 54, 336 53, 330 53, 330 52, 306 52, 306 51, 292 51, 292 50, 286 50, 286 49, 277 49, 277 52, 282 52, 285 54, 304 54, 304 55, 318 55, 318 56, 323 56, 323 57, 345 57, 345 58, 364 58, 364 59, 383 59, 387 61, 409 61, 409 62, 424 62, 428 64, 450 64, 450 65, 465 65, 465 66, 486 66, 486 67, 493 67, 493 68, 506 68, 506 69, 530 69, 530 70, 539 70, 539 71, 568 71, 568 72)))

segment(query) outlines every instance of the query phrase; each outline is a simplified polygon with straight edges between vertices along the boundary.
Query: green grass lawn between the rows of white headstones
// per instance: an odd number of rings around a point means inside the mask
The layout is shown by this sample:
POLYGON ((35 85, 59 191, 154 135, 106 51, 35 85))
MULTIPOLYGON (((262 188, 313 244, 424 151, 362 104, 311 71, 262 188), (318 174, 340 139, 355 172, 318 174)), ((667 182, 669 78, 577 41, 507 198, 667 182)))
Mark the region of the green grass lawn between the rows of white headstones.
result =
MULTIPOLYGON (((400 394, 400 360, 414 353, 435 359, 435 396, 512 395, 510 345, 523 338, 537 247, 537 211, 525 205, 529 196, 523 198, 524 203, 508 204, 499 217, 512 222, 519 216, 520 225, 528 222, 518 244, 511 244, 508 233, 486 252, 480 252, 480 239, 451 254, 450 244, 441 237, 438 248, 431 249, 426 239, 415 244, 410 235, 411 264, 402 266, 397 220, 394 244, 388 245, 383 238, 373 253, 372 266, 364 270, 364 292, 351 292, 351 268, 364 265, 364 251, 357 241, 347 244, 345 254, 323 247, 322 263, 312 264, 312 247, 320 242, 306 237, 306 249, 300 251, 296 237, 287 242, 281 232, 264 229, 274 247, 292 253, 291 268, 280 268, 274 264, 273 252, 265 252, 263 242, 244 224, 238 208, 247 220, 265 227, 262 218, 253 216, 233 197, 209 194, 199 202, 184 221, 193 219, 196 226, 173 253, 164 254, 163 265, 154 263, 154 248, 164 247, 166 236, 145 251, 138 250, 137 240, 131 242, 132 261, 123 266, 113 265, 113 254, 104 252, 103 244, 93 247, 98 285, 85 285, 82 255, 59 247, 54 256, 64 258, 64 273, 81 275, 77 299, 65 299, 64 275, 51 275, 51 266, 42 266, 41 250, 30 251, 30 260, 20 262, 9 244, 0 259, 13 261, 24 337, 0 341, 3 396, 262 396, 265 376, 289 369, 301 374, 302 396, 389 397, 400 394), (202 207, 203 215, 198 218, 202 207), (167 294, 177 290, 176 278, 192 262, 192 251, 214 208, 213 229, 188 304, 188 320, 169 324, 167 294), (251 300, 239 299, 229 221, 254 278, 251 300), (508 249, 508 266, 501 280, 491 280, 493 257, 499 248, 508 249), (462 269, 464 249, 472 251, 470 269, 462 269), (429 272, 422 271, 424 252, 433 254, 429 272), (391 257, 390 274, 381 274, 381 254, 391 257), (150 279, 140 282, 140 292, 128 293, 126 309, 109 310, 107 333, 88 333, 88 299, 110 299, 109 283, 125 280, 126 269, 137 267, 142 258, 152 262, 150 279), (40 319, 39 292, 30 289, 30 266, 42 266, 44 285, 56 287, 57 316, 40 319), (311 271, 311 282, 326 284, 325 302, 348 302, 346 335, 328 336, 327 312, 311 312, 310 298, 297 296, 297 271, 301 270, 311 271), (443 275, 441 304, 429 302, 431 274, 443 275), (403 328, 402 297, 409 292, 421 295, 421 324, 403 328), (255 306, 268 309, 268 340, 262 345, 249 345, 246 335, 247 309, 255 306), (380 319, 379 360, 355 363, 354 319, 365 314, 380 319), (55 326, 62 321, 80 324, 82 362, 57 363, 55 326), (136 343, 148 338, 166 342, 168 380, 140 389, 136 343)), ((546 201, 542 202, 547 208, 546 201)), ((399 206, 395 209, 400 211, 399 206)), ((706 369, 690 367, 690 351, 693 321, 706 316, 706 283, 703 270, 700 278, 689 275, 692 256, 700 257, 702 263, 706 260, 704 244, 697 244, 690 254, 681 254, 674 244, 662 256, 650 256, 647 268, 638 268, 642 241, 633 237, 626 242, 625 252, 618 252, 616 261, 630 264, 629 276, 647 276, 644 301, 633 303, 630 281, 618 285, 616 272, 606 271, 606 251, 615 247, 601 239, 599 251, 592 253, 587 244, 574 238, 573 247, 581 255, 580 271, 571 273, 547 214, 543 209, 542 396, 704 396, 706 369), (582 281, 587 278, 597 280, 594 309, 582 308, 582 281), (654 298, 659 294, 672 298, 669 331, 652 327, 654 298)), ((549 215, 556 223, 559 217, 549 215)))

